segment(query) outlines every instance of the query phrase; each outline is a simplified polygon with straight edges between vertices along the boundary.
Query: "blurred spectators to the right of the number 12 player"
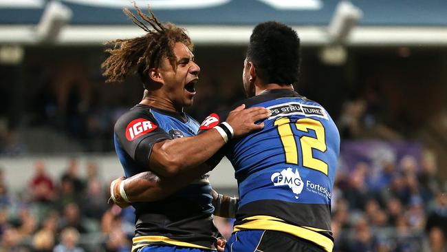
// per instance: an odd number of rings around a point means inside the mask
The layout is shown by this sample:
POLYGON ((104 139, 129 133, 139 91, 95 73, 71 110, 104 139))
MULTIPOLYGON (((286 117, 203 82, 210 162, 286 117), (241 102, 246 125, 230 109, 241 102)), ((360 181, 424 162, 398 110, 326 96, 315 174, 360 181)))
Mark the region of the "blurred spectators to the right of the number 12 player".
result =
POLYGON ((447 185, 433 153, 381 158, 376 174, 367 162, 349 168, 333 191, 334 251, 447 251, 447 185))

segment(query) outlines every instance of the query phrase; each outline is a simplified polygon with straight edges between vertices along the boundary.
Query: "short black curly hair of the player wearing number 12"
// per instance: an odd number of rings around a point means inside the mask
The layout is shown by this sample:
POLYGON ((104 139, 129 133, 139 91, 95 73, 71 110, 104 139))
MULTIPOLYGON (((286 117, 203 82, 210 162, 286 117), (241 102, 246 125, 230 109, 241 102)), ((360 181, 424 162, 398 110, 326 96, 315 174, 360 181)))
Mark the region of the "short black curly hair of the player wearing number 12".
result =
POLYGON ((260 23, 250 36, 247 59, 265 83, 296 84, 300 67, 298 34, 283 23, 260 23))

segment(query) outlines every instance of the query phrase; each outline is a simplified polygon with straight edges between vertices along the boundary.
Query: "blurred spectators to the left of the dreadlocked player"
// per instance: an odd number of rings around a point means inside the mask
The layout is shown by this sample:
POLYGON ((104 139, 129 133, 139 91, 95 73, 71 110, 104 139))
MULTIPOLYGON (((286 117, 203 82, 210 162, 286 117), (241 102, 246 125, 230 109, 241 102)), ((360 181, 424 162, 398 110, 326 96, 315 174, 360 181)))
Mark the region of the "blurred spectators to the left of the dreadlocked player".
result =
POLYGON ((108 184, 98 177, 95 162, 85 169, 86 176, 79 176, 78 161, 69 159, 54 179, 38 160, 28 187, 19 193, 8 191, 2 175, 0 251, 130 251, 133 209, 108 202, 108 184))

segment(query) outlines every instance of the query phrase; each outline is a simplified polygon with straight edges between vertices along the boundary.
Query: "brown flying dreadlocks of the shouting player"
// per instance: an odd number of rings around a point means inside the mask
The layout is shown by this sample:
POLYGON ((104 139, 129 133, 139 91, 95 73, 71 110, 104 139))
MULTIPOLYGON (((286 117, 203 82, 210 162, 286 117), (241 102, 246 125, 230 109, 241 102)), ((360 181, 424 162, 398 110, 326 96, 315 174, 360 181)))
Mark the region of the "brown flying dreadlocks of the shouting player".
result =
POLYGON ((106 77, 106 82, 121 82, 128 74, 138 74, 143 86, 147 89, 149 85, 148 71, 157 68, 163 59, 167 58, 172 67, 176 69, 176 59, 173 49, 175 43, 181 42, 193 51, 193 43, 186 30, 177 27, 173 23, 160 23, 151 8, 149 15, 144 14, 136 5, 135 10, 138 18, 129 9, 124 8, 124 14, 131 19, 132 23, 142 28, 146 34, 133 39, 116 39, 107 42, 113 48, 105 50, 110 55, 101 64, 104 69, 102 73, 106 77), (149 25, 146 25, 148 24, 149 25))

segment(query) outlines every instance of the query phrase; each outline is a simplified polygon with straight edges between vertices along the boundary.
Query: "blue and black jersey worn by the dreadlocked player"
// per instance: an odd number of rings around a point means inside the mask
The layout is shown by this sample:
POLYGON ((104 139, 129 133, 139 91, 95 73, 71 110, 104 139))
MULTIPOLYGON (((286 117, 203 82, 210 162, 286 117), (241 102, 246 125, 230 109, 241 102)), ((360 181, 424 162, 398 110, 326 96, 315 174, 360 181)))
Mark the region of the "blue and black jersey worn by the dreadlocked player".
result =
MULTIPOLYGON (((195 136, 198 129, 197 121, 186 114, 136 105, 115 124, 115 149, 124 173, 130 177, 151 171, 149 156, 155 143, 195 136)), ((218 233, 212 223, 211 201, 205 175, 163 200, 132 203, 136 216, 133 249, 149 244, 215 249, 218 233)))

